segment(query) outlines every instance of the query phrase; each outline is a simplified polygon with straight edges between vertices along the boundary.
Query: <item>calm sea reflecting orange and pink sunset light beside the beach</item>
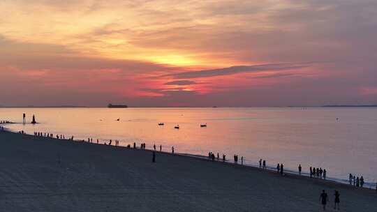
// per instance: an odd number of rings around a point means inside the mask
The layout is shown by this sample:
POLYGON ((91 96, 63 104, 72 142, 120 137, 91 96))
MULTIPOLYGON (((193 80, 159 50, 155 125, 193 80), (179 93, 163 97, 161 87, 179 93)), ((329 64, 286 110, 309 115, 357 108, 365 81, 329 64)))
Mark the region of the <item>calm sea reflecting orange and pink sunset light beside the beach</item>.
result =
POLYGON ((263 158, 270 167, 283 162, 292 171, 299 163, 304 172, 323 167, 337 181, 349 173, 377 181, 377 108, 1 108, 0 119, 29 134, 120 139, 124 146, 145 142, 147 149, 162 144, 165 151, 175 146, 179 153, 212 151, 228 159, 237 154, 249 165, 263 158), (23 125, 22 113, 28 123, 35 114, 40 124, 23 125))

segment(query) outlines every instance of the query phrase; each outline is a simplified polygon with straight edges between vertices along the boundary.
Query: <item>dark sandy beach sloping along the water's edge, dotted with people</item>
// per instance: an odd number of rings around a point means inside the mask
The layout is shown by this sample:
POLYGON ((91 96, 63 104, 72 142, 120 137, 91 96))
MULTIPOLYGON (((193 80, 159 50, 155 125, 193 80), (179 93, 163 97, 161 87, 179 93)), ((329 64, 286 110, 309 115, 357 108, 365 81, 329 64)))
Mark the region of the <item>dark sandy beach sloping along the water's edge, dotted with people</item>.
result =
POLYGON ((376 190, 148 150, 0 132, 0 211, 376 211, 376 190), (60 160, 60 162, 59 162, 60 160))

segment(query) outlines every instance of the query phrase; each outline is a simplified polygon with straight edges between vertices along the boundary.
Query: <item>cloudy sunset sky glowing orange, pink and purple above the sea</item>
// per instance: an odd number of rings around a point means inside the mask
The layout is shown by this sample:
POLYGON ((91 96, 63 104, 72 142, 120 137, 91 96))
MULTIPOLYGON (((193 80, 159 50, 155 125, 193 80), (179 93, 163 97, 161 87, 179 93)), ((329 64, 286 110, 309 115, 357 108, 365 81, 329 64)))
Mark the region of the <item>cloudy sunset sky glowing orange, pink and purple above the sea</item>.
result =
POLYGON ((0 0, 0 105, 377 104, 377 1, 0 0))

